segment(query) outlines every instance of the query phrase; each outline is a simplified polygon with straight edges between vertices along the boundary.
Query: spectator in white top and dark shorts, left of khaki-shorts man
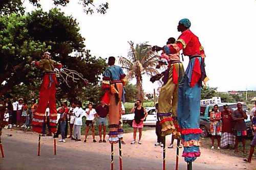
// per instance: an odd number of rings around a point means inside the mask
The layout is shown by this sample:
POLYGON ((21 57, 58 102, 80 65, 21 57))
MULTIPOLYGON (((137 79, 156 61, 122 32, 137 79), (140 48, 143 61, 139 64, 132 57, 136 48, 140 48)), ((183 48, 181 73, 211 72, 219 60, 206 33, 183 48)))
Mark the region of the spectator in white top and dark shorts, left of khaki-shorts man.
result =
POLYGON ((92 128, 92 136, 93 136, 93 142, 96 142, 95 140, 95 128, 94 128, 94 115, 97 113, 95 109, 93 109, 92 103, 89 103, 89 108, 86 109, 86 135, 84 138, 84 143, 86 143, 86 139, 90 130, 90 127, 92 128))

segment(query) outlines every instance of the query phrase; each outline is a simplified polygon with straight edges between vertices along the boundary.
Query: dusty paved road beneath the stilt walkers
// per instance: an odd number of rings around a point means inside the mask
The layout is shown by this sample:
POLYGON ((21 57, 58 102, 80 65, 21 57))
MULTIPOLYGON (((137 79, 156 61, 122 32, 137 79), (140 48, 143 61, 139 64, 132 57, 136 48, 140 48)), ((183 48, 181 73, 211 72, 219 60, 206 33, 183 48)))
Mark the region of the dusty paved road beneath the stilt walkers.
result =
MULTIPOLYGON (((5 132, 7 133, 7 131, 5 132)), ((86 145, 84 143, 77 143, 68 141, 67 143, 57 143, 57 155, 53 155, 53 139, 44 137, 41 144, 41 156, 37 156, 37 135, 13 132, 12 137, 7 137, 3 134, 3 143, 5 149, 5 158, 0 158, 0 169, 1 170, 34 170, 34 169, 96 169, 105 170, 110 169, 110 155, 108 150, 110 149, 109 143, 101 145, 102 150, 98 145, 100 143, 88 143, 87 147, 81 147, 86 145), (88 147, 93 147, 88 151, 88 147), (61 147, 61 145, 63 147, 61 147)), ((143 143, 143 147, 147 147, 143 143)), ((142 145, 139 147, 142 149, 142 145)), ((115 153, 117 152, 118 145, 115 145, 115 153)), ((124 150, 138 149, 131 147, 130 144, 126 144, 124 150)), ((146 149, 145 149, 146 150, 146 149)), ((137 151, 136 151, 137 152, 137 151)), ((135 153, 136 153, 135 152, 135 153)), ((154 159, 136 158, 136 155, 124 155, 123 156, 123 169, 124 170, 159 170, 162 167, 161 158, 156 160, 156 155, 159 153, 145 153, 147 157, 153 157, 154 159)), ((183 159, 180 160, 180 169, 186 169, 186 164, 183 159)), ((167 160, 167 169, 174 169, 174 160, 167 160)), ((118 168, 118 156, 115 156, 115 169, 118 168)), ((209 165, 205 163, 194 163, 193 169, 197 170, 224 170, 221 165, 209 165)), ((225 168, 225 170, 231 170, 233 168, 225 168)), ((248 168, 247 168, 248 169, 248 168)))

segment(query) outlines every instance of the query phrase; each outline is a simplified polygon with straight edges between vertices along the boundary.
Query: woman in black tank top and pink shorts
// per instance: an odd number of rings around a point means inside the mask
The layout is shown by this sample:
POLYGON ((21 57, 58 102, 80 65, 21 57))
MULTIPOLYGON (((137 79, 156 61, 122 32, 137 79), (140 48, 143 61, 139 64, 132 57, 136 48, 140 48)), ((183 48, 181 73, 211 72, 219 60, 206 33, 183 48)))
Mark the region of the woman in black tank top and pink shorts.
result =
POLYGON ((142 128, 143 128, 143 120, 147 116, 147 111, 141 106, 141 101, 137 100, 134 107, 131 110, 132 113, 135 113, 133 120, 133 141, 131 144, 136 144, 136 133, 137 129, 139 129, 139 141, 141 144, 141 136, 142 136, 142 128))

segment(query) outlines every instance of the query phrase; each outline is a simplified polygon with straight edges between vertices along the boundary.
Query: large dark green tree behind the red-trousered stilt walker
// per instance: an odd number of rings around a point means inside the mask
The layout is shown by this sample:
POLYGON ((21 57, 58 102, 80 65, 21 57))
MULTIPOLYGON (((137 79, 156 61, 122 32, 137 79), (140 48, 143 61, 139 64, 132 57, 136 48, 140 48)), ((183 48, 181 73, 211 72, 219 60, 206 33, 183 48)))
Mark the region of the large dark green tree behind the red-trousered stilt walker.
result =
MULTIPOLYGON (((29 63, 40 59, 45 50, 63 67, 79 71, 92 84, 98 83, 106 67, 104 59, 92 57, 85 49, 76 20, 58 9, 0 16, 0 95, 20 84, 37 89, 41 72, 29 63)), ((82 82, 69 84, 71 88, 60 80, 58 99, 65 94, 74 99, 84 86, 82 82)))

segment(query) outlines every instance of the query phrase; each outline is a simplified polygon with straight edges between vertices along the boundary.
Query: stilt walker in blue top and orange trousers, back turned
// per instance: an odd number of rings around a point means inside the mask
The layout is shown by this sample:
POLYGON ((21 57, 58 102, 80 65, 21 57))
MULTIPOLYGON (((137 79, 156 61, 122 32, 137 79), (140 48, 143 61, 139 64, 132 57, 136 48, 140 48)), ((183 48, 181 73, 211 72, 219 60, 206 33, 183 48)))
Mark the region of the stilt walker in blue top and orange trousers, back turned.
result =
MULTIPOLYGON (((115 58, 109 57, 109 67, 104 72, 102 81, 102 88, 105 89, 105 94, 102 98, 102 102, 109 104, 109 118, 110 118, 110 133, 109 141, 111 144, 111 167, 114 166, 114 150, 113 144, 120 142, 120 138, 123 137, 123 129, 119 125, 121 118, 121 99, 123 95, 123 86, 125 85, 125 74, 120 66, 114 65, 115 58)), ((120 169, 122 168, 122 153, 119 143, 119 163, 120 169)))

